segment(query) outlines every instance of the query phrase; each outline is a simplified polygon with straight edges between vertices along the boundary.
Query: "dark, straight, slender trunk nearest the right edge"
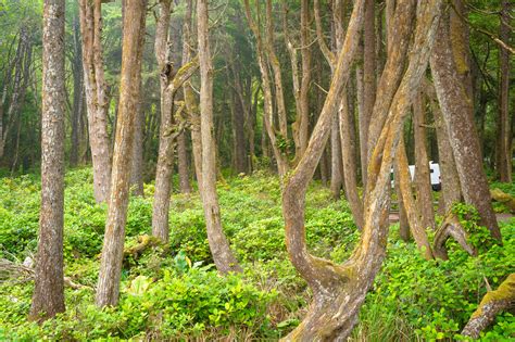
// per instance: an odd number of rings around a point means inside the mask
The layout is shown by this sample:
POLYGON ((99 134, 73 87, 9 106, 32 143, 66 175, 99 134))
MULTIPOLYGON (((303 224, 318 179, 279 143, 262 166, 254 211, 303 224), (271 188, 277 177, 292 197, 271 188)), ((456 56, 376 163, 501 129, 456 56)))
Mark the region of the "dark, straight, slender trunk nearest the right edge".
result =
MULTIPOLYGON (((513 3, 510 0, 502 0, 501 26, 499 38, 502 41, 510 41, 510 12, 513 3)), ((512 137, 510 122, 510 52, 499 48, 499 117, 498 117, 498 141, 497 141, 497 168, 499 180, 512 182, 512 137)))

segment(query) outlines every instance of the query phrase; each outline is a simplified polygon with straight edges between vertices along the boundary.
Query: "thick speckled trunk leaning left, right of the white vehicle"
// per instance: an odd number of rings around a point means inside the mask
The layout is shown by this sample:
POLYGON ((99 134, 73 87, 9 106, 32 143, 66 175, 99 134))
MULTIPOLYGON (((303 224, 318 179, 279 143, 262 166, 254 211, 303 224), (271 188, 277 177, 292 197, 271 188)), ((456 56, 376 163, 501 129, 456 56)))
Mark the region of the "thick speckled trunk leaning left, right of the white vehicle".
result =
POLYGON ((482 167, 472 102, 456 72, 452 54, 449 13, 442 18, 438 36, 431 55, 431 72, 456 161, 462 193, 465 202, 478 210, 481 225, 488 227, 492 237, 501 241, 501 231, 492 210, 487 176, 482 167))

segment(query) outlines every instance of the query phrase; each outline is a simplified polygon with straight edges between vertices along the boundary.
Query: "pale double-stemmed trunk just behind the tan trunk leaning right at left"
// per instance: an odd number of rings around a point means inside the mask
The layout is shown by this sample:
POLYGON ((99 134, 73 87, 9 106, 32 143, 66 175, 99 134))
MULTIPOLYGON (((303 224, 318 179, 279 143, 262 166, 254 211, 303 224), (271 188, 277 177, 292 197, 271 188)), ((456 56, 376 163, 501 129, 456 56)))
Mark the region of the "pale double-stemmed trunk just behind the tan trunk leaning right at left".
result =
POLYGON ((111 186, 109 101, 103 72, 101 2, 101 0, 80 0, 84 85, 93 164, 93 191, 98 203, 108 200, 111 186))

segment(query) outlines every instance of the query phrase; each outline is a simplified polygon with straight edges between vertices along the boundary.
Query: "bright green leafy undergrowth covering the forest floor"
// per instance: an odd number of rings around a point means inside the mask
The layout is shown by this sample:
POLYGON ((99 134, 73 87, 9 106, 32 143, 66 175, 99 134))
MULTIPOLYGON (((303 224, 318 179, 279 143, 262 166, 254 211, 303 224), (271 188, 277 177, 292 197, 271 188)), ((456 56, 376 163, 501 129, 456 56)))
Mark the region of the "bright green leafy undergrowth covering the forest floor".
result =
MULTIPOLYGON (((66 313, 37 326, 27 322, 33 282, 0 271, 0 341, 34 340, 277 340, 304 316, 311 299, 288 259, 280 187, 266 173, 228 177, 218 183, 224 230, 241 275, 221 277, 209 251, 198 194, 171 200, 171 241, 124 261, 120 305, 93 305, 106 205, 92 197, 90 168, 66 175, 65 275, 80 290, 66 289, 66 313)), ((150 233, 153 185, 133 198, 126 246, 150 233)), ((459 207, 475 245, 486 245, 474 213, 459 207)), ((0 178, 0 257, 22 263, 37 244, 39 178, 0 178)), ((306 199, 306 239, 313 254, 343 262, 360 235, 344 201, 313 183, 306 199)), ((414 243, 400 241, 392 226, 382 269, 354 329, 354 341, 456 340, 488 286, 514 271, 515 220, 501 226, 503 245, 488 244, 477 257, 450 242, 449 261, 427 262, 414 243)), ((482 339, 513 338, 514 318, 498 316, 482 339)))

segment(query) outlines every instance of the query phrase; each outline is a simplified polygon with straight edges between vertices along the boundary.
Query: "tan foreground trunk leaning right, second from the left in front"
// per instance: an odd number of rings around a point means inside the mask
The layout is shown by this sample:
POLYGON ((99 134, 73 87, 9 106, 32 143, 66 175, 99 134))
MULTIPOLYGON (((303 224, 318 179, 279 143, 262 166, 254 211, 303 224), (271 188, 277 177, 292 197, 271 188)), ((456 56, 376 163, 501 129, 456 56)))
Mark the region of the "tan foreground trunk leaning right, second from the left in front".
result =
POLYGON ((113 153, 112 191, 109 198, 108 220, 97 287, 98 306, 118 303, 129 198, 134 122, 141 90, 140 61, 145 41, 147 1, 125 0, 124 10, 120 106, 113 153))

